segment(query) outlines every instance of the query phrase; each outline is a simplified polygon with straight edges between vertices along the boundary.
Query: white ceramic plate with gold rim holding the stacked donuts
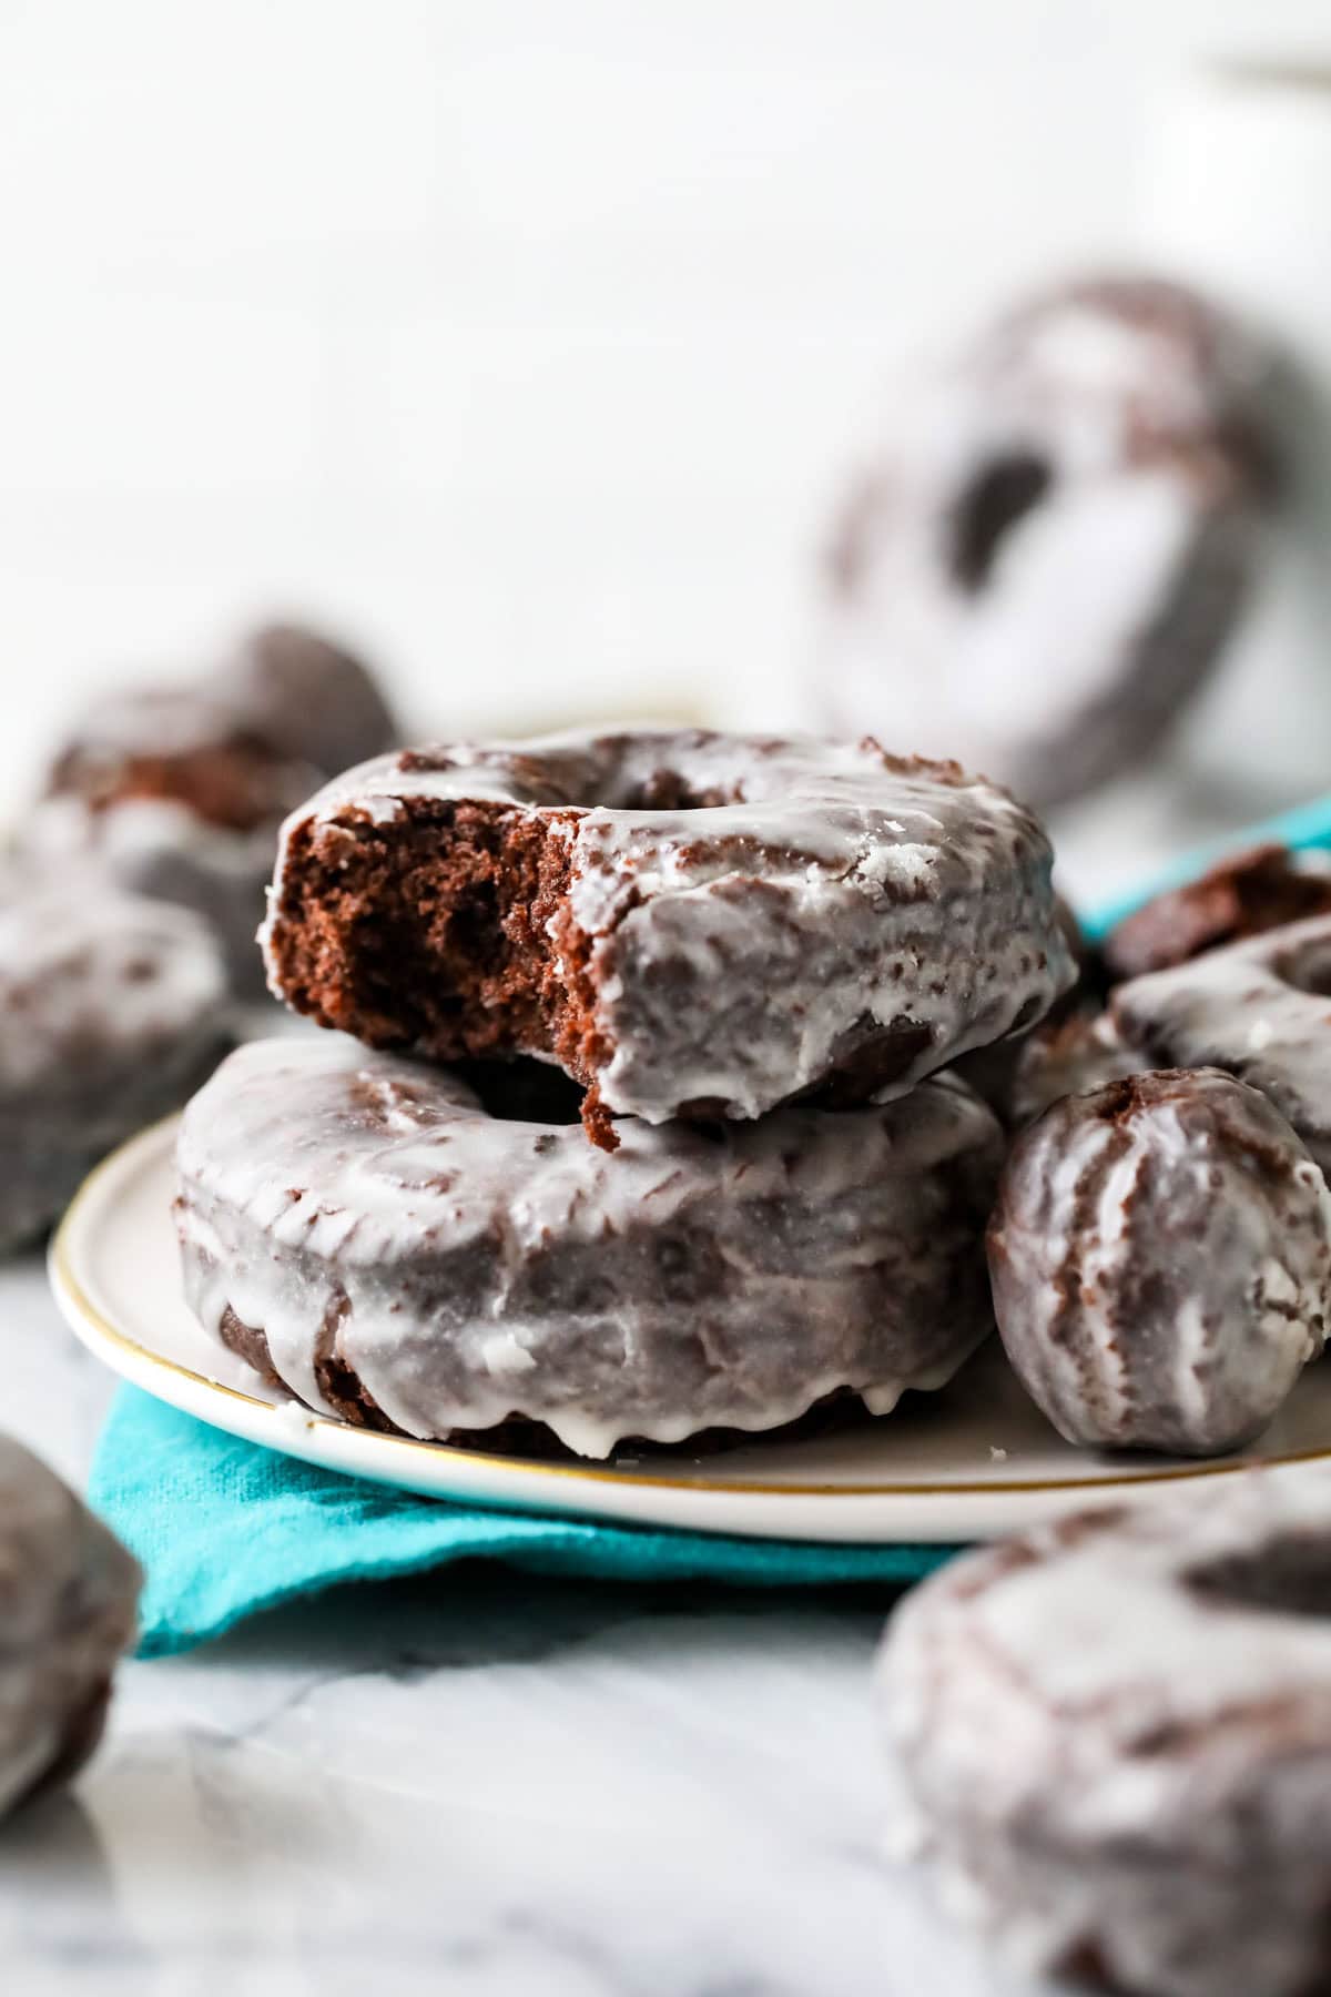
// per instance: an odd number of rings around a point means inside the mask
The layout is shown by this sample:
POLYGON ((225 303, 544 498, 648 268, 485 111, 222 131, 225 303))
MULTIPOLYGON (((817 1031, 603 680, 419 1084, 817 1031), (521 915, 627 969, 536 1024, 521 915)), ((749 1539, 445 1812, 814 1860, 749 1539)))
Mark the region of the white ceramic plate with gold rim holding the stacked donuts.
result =
POLYGON ((804 1442, 752 1442, 639 1464, 525 1462, 375 1436, 271 1396, 194 1322, 172 1228, 176 1122, 132 1138, 88 1178, 52 1242, 74 1332, 158 1400, 233 1436, 433 1498, 776 1540, 982 1540, 1070 1504, 1197 1496, 1251 1464, 1331 1468, 1331 1360, 1309 1368, 1243 1456, 1213 1464, 1074 1450, 1026 1400, 994 1342, 942 1394, 804 1442))

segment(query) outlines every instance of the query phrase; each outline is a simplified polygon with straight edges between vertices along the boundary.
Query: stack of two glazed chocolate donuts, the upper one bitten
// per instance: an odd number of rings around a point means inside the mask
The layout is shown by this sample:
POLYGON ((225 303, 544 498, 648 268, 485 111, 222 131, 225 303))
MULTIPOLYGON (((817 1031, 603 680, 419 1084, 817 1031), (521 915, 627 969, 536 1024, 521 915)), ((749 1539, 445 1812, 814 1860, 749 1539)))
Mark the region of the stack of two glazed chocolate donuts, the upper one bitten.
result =
POLYGON ((204 1326, 421 1438, 605 1456, 888 1412, 992 1324, 960 1056, 1074 981, 1038 821, 876 743, 381 757, 285 823, 269 983, 345 1038, 190 1106, 204 1326))

